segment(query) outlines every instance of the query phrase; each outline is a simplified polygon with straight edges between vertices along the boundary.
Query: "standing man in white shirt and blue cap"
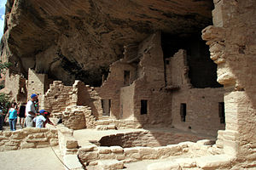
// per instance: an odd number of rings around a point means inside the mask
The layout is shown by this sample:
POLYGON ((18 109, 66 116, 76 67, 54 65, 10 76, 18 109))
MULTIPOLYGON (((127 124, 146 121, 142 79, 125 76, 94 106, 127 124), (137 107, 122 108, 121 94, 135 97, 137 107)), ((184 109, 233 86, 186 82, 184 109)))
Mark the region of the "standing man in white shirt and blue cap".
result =
POLYGON ((37 111, 35 109, 34 101, 38 99, 37 94, 32 94, 31 95, 31 100, 29 100, 26 103, 26 127, 34 127, 33 126, 33 118, 36 116, 37 111))

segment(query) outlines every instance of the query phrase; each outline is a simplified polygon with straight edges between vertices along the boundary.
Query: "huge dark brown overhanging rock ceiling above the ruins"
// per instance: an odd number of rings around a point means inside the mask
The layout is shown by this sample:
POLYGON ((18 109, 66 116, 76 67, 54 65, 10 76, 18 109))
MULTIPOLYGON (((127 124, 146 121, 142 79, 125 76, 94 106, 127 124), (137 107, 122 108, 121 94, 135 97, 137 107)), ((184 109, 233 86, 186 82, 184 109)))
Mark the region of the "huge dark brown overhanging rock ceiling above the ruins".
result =
POLYGON ((8 0, 2 56, 72 84, 100 86, 124 46, 154 31, 176 37, 212 25, 212 0, 8 0))

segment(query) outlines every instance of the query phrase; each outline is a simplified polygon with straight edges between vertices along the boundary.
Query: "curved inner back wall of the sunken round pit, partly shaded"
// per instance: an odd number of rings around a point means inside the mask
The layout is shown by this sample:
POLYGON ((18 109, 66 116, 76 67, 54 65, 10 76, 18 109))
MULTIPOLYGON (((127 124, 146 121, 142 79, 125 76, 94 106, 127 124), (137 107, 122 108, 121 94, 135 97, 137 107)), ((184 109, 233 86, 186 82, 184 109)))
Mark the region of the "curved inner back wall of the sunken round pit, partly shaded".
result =
POLYGON ((193 133, 138 131, 104 136, 100 139, 99 144, 101 146, 119 145, 124 148, 136 146, 157 147, 178 144, 184 141, 196 142, 201 139, 206 139, 206 137, 200 137, 193 133))

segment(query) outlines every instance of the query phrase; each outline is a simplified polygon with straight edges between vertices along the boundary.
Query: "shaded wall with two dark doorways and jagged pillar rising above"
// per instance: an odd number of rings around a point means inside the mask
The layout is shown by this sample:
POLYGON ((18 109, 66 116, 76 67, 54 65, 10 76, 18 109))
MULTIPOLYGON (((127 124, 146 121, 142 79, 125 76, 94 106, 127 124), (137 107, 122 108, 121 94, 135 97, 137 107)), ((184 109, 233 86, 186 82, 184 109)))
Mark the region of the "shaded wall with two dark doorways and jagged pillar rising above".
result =
POLYGON ((219 103, 224 101, 223 88, 192 88, 187 65, 186 51, 179 50, 170 59, 169 68, 173 85, 179 87, 172 91, 172 125, 195 133, 217 135, 219 129, 224 129, 220 122, 219 103), (183 107, 186 116, 183 117, 183 107))

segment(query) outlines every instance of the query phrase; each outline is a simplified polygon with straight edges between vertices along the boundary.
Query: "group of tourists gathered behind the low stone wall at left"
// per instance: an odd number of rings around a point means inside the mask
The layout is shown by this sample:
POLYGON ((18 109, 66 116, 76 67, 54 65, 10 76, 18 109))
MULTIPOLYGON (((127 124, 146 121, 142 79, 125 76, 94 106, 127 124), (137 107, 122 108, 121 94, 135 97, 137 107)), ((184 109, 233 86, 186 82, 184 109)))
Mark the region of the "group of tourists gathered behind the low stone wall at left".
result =
MULTIPOLYGON (((40 110, 38 105, 38 95, 32 94, 31 99, 26 103, 24 103, 18 107, 17 103, 13 103, 11 108, 9 109, 7 115, 4 118, 4 122, 7 122, 7 118, 9 117, 9 127, 11 131, 16 130, 16 123, 18 116, 20 117, 20 127, 45 127, 46 123, 49 123, 53 126, 55 124, 50 122, 49 116, 50 113, 45 110, 40 110), (26 117, 26 118, 25 118, 26 117)), ((0 110, 0 130, 3 129, 3 111, 0 110)))

